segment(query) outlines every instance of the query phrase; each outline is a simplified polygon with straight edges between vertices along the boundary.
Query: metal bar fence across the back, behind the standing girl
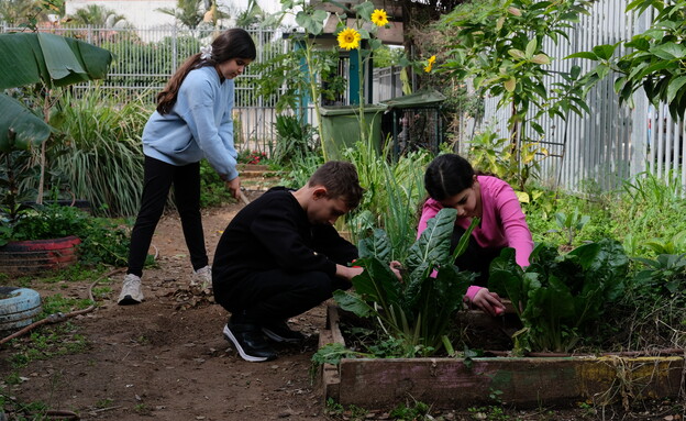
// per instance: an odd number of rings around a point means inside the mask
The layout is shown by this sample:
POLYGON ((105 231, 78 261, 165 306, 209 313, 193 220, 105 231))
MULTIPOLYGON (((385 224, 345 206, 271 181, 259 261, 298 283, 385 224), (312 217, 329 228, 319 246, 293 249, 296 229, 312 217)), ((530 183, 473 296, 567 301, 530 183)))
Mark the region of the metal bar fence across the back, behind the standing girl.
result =
MULTIPOLYGON (((9 27, 0 22, 0 33, 22 29, 9 27)), ((278 30, 247 31, 257 46, 256 63, 266 63, 290 48, 288 40, 278 30)), ((54 27, 51 32, 80 38, 107 48, 114 55, 106 80, 77 85, 74 89, 87 89, 95 85, 117 92, 123 100, 142 96, 150 104, 155 103, 155 96, 176 68, 217 35, 214 30, 187 30, 173 25, 151 29, 54 27)), ((397 67, 375 70, 375 78, 380 80, 375 81, 379 88, 375 90, 375 101, 401 95, 396 89, 400 84, 394 80, 394 77, 399 79, 399 70, 397 67), (386 85, 389 88, 385 88, 386 85)), ((274 128, 277 112, 275 99, 255 95, 252 85, 259 77, 262 75, 248 66, 245 74, 235 80, 235 144, 239 149, 270 152, 276 139, 274 128)), ((307 121, 317 126, 319 122, 313 108, 310 107, 307 113, 307 121)))

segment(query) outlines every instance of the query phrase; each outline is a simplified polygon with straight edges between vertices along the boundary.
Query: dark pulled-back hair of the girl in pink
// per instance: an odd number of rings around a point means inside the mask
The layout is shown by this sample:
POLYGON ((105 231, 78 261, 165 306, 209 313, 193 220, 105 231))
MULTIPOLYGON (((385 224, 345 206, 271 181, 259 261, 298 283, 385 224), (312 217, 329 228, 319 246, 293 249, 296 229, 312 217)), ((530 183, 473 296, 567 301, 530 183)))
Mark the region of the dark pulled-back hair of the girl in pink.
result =
POLYGON ((444 200, 474 185, 474 168, 455 154, 436 156, 424 173, 424 188, 434 200, 444 200))

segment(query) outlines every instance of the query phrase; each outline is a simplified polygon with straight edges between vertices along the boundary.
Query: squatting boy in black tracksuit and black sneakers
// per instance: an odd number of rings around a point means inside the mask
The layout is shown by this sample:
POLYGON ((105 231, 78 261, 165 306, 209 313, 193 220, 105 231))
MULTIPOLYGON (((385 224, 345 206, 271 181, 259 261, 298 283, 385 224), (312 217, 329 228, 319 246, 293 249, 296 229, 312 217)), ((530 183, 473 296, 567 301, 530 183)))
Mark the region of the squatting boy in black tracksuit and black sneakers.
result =
POLYGON ((242 209, 212 264, 214 298, 232 315, 224 335, 250 362, 276 358, 265 334, 299 342, 286 321, 351 287, 357 248, 333 228, 363 195, 350 163, 329 162, 298 190, 276 187, 242 209))

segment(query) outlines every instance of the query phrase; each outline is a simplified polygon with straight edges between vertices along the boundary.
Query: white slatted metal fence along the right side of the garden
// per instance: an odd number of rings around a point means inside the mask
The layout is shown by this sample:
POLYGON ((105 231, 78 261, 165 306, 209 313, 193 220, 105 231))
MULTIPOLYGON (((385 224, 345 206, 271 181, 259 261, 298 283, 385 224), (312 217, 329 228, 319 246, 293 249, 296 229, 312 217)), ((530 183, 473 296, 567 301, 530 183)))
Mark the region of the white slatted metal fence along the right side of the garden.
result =
MULTIPOLYGON (((591 13, 582 16, 569 43, 545 45, 556 59, 554 71, 568 71, 578 65, 583 71, 593 65, 586 59, 563 59, 582 51, 591 51, 600 44, 615 44, 630 40, 650 26, 651 15, 627 14, 627 0, 599 0, 594 2, 591 13)), ((619 54, 624 54, 618 51, 619 54)), ((540 139, 551 156, 541 162, 542 180, 571 191, 584 191, 588 184, 608 190, 620 186, 623 179, 650 170, 668 184, 678 184, 686 191, 686 166, 683 165, 686 135, 683 121, 673 121, 666 107, 649 106, 642 91, 634 96, 634 108, 619 106, 619 97, 610 75, 588 95, 591 112, 579 118, 569 113, 566 121, 543 118, 545 137, 540 139)), ((549 86, 558 81, 551 78, 549 86)), ((460 139, 460 147, 466 151, 474 132, 494 128, 507 137, 509 109, 497 110, 498 98, 486 98, 485 118, 469 122, 471 129, 460 139), (474 126, 475 125, 475 126, 474 126)), ((539 139, 533 130, 527 135, 539 139)))

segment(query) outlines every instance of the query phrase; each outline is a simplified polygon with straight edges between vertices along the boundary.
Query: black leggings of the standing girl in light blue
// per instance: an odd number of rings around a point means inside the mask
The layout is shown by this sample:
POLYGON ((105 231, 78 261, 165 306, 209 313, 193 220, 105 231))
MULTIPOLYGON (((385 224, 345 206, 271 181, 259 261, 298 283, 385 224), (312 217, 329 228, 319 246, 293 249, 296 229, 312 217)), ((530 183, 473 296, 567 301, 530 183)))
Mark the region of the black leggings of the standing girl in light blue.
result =
POLYGON ((208 265, 200 217, 200 163, 174 166, 145 157, 141 211, 131 233, 128 274, 143 275, 143 265, 174 184, 176 208, 181 217, 184 237, 193 269, 208 265))

